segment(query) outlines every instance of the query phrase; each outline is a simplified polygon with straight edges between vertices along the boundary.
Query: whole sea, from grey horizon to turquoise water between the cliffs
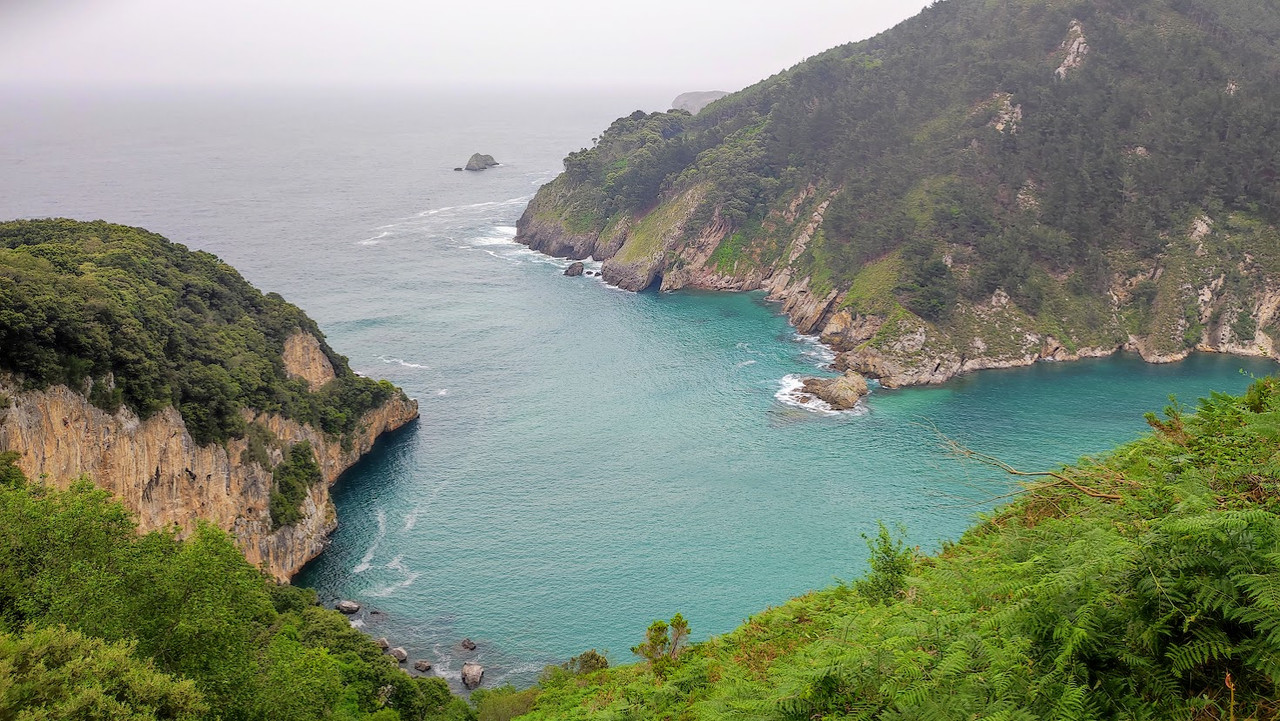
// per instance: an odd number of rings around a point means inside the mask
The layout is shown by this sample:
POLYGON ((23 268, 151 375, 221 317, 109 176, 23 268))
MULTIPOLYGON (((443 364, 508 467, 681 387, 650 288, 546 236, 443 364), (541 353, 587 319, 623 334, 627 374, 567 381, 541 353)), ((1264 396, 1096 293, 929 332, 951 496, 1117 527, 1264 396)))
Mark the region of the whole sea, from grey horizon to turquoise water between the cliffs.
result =
POLYGON ((878 523, 937 549, 1018 488, 943 438, 1052 469, 1170 396, 1275 371, 1120 355, 805 403, 832 355, 762 296, 627 293, 512 241, 567 152, 675 91, 0 92, 0 216, 216 254, 417 398, 339 480, 338 531, 294 583, 362 603, 353 624, 457 689, 468 660, 488 686, 591 648, 627 662, 676 612, 727 633, 856 578, 878 523), (456 172, 472 152, 502 165, 456 172))

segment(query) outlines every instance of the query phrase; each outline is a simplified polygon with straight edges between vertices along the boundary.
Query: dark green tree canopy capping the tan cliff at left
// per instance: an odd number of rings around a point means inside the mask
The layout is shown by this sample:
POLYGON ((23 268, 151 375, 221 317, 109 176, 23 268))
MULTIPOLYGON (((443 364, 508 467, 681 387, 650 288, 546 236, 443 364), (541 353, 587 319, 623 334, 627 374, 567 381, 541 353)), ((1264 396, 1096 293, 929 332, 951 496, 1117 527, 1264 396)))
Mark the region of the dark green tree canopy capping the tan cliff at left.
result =
POLYGON ((241 437, 242 409, 279 412, 333 435, 385 402, 296 306, 225 263, 155 233, 108 223, 0 223, 0 370, 64 383, 99 407, 182 412, 197 443, 241 437), (285 339, 321 339, 337 379, 308 392, 284 370, 285 339))

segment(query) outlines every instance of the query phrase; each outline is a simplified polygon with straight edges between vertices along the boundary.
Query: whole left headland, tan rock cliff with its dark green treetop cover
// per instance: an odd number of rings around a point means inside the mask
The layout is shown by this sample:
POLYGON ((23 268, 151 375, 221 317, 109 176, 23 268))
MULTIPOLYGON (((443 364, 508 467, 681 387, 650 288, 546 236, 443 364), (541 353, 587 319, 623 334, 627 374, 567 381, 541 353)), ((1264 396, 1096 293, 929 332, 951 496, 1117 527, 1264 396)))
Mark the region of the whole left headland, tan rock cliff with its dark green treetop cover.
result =
POLYGON ((300 309, 137 228, 0 223, 0 452, 142 531, 207 520, 280 580, 335 528, 329 487, 417 417, 300 309))

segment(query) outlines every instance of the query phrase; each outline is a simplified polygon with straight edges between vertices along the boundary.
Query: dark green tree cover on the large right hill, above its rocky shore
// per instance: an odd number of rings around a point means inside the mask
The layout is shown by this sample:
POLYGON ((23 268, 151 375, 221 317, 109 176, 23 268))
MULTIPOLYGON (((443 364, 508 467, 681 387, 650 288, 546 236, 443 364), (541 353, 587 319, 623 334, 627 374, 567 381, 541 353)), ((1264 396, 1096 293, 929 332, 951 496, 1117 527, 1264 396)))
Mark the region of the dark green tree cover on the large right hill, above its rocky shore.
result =
MULTIPOLYGON (((938 1, 696 117, 617 120, 535 206, 607 236, 694 193, 686 239, 727 225, 721 273, 791 265, 826 293, 901 252, 893 296, 932 323, 996 289, 1033 316, 1098 312, 1069 306, 1156 263, 1201 214, 1280 220, 1277 38, 1260 0, 938 1)), ((667 250, 675 268, 692 257, 667 250)))

